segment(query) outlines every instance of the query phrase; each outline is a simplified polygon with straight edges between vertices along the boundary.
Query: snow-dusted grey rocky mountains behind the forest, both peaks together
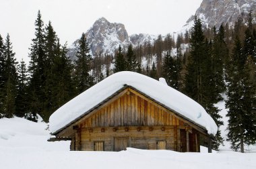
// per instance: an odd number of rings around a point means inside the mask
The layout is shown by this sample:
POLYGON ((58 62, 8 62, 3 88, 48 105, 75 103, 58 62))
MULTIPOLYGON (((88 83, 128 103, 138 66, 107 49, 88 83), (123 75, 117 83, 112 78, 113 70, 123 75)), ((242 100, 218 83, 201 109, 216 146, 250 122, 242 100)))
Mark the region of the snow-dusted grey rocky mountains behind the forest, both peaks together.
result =
MULTIPOLYGON (((247 16, 249 11, 256 11, 256 0, 203 0, 195 14, 202 20, 206 27, 218 28, 222 23, 234 25, 239 15, 243 18, 247 16)), ((183 26, 179 33, 185 33, 193 26, 194 16, 191 16, 187 23, 183 26)), ((125 25, 122 23, 110 23, 104 17, 100 17, 94 22, 92 27, 86 32, 86 37, 90 45, 92 56, 101 54, 115 54, 119 47, 127 48, 129 44, 133 47, 143 45, 145 42, 154 43, 157 36, 149 34, 133 34, 129 36, 125 25)), ((73 42, 69 46, 68 56, 75 60, 75 52, 77 51, 77 42, 73 42)))

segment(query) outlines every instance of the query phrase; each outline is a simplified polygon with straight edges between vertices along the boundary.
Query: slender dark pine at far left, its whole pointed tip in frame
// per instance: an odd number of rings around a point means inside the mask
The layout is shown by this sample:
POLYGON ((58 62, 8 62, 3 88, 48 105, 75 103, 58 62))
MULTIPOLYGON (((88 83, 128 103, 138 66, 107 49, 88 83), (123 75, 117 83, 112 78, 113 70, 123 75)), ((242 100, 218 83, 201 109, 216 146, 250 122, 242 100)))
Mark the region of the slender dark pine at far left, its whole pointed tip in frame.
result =
POLYGON ((5 67, 3 70, 5 71, 5 84, 3 91, 5 92, 5 98, 3 101, 3 115, 10 118, 15 114, 15 97, 17 95, 18 76, 15 67, 17 62, 15 53, 12 51, 9 34, 7 34, 4 46, 3 57, 5 57, 5 67))

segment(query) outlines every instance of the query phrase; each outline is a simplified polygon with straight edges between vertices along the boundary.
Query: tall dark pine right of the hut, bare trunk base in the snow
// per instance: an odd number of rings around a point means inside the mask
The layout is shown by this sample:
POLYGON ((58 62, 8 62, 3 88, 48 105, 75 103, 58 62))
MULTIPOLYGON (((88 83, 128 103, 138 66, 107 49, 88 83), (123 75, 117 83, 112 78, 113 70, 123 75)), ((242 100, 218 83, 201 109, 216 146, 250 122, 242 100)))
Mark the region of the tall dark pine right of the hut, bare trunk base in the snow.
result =
POLYGON ((226 108, 228 109, 228 141, 231 142, 231 148, 234 150, 241 149, 244 152, 245 144, 245 107, 243 105, 243 69, 245 65, 245 57, 242 54, 242 45, 238 37, 236 37, 235 46, 232 51, 232 58, 226 70, 228 76, 228 100, 226 108))

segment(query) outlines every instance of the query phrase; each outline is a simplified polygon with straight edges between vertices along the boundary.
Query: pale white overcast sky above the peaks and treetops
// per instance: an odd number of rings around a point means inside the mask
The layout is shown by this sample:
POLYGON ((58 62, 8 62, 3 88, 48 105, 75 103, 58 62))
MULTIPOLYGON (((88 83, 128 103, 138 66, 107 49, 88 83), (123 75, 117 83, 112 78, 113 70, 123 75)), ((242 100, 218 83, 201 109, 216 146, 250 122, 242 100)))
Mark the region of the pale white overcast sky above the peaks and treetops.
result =
POLYGON ((51 20, 68 45, 80 38, 99 17, 123 23, 129 35, 179 31, 202 0, 0 0, 0 34, 9 33, 18 61, 28 58, 38 9, 44 25, 51 20))

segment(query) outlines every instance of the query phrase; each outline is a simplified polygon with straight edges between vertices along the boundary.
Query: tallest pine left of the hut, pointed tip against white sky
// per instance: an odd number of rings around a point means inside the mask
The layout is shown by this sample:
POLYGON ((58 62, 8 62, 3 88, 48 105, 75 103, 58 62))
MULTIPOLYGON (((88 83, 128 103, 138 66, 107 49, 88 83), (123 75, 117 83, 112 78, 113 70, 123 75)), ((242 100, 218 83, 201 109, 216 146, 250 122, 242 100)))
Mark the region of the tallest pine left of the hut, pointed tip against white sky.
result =
POLYGON ((36 121, 36 114, 40 114, 45 107, 45 80, 46 80, 46 54, 45 54, 45 34, 44 22, 40 11, 38 11, 37 19, 35 21, 36 32, 35 38, 32 39, 30 47, 30 64, 28 71, 30 72, 30 109, 26 115, 28 119, 36 121))

